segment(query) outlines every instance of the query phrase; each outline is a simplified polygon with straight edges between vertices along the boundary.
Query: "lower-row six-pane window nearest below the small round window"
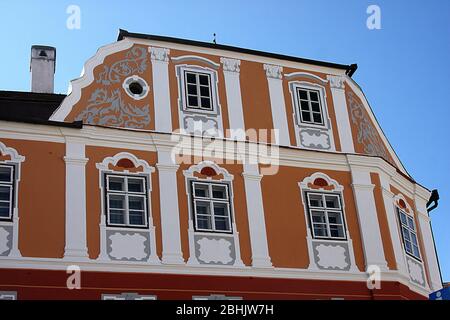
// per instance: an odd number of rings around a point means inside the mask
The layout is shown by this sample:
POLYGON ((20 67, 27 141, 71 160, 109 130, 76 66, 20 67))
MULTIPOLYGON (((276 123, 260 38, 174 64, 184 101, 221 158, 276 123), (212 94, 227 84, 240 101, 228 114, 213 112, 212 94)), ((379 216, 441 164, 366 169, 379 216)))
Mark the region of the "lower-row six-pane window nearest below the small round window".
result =
POLYGON ((144 177, 106 175, 108 225, 146 227, 147 197, 144 177))

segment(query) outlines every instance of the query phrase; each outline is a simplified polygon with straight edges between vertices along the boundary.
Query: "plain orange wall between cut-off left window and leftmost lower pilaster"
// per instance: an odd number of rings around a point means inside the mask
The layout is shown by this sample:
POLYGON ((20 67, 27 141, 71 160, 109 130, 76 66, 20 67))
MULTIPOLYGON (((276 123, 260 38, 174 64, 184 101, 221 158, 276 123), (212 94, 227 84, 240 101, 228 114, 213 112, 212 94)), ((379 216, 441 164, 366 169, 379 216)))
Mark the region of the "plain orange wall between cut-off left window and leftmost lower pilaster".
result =
POLYGON ((18 194, 20 252, 25 257, 62 258, 65 246, 65 145, 3 138, 0 141, 25 157, 18 194))

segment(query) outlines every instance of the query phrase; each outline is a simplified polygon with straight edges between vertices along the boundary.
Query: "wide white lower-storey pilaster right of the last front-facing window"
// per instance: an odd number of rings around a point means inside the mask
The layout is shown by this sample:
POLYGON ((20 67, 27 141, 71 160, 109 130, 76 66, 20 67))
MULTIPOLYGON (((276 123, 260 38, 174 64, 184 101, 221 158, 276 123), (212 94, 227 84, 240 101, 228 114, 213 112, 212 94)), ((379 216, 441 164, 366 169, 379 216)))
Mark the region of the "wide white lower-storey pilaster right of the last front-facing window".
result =
POLYGON ((387 271, 388 268, 373 194, 375 186, 370 179, 370 171, 366 167, 353 164, 352 156, 348 156, 347 159, 352 174, 352 187, 355 196, 356 211, 358 213, 366 268, 370 265, 376 265, 381 271, 387 271))

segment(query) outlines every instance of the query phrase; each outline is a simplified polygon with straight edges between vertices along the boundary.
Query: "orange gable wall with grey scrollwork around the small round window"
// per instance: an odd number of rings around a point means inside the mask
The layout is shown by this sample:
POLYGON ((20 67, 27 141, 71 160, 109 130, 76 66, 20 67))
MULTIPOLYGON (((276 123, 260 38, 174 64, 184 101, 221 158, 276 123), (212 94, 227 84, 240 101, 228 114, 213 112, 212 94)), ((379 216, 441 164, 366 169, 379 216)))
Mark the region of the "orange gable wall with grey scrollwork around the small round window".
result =
MULTIPOLYGON (((117 66, 117 68, 120 68, 120 66, 118 66, 117 64, 116 64, 116 66, 117 66)), ((86 71, 89 72, 90 70, 86 70, 86 71)), ((150 54, 148 52, 147 46, 133 45, 129 49, 111 54, 105 58, 105 60, 102 64, 100 64, 94 68, 93 73, 94 73, 94 81, 91 84, 89 84, 87 87, 85 87, 81 90, 80 100, 73 106, 72 111, 66 117, 65 121, 72 122, 74 120, 77 120, 77 117, 81 112, 88 109, 90 106, 94 107, 94 101, 92 100, 92 98, 93 98, 93 94, 96 90, 104 90, 104 92, 107 93, 108 97, 110 97, 112 95, 114 90, 119 90, 123 105, 125 107, 133 106, 133 107, 137 107, 138 109, 142 109, 145 105, 149 106, 150 122, 148 125, 140 127, 140 129, 146 129, 146 130, 154 130, 155 129, 155 122, 154 122, 155 115, 154 115, 154 108, 153 108, 152 64, 150 61, 150 54), (127 54, 130 54, 131 57, 135 57, 135 55, 133 55, 133 53, 138 54, 138 56, 140 54, 142 54, 142 52, 140 52, 140 51, 133 51, 133 50, 137 50, 137 49, 145 50, 145 59, 137 60, 138 63, 136 63, 136 62, 132 61, 132 59, 126 57, 127 54), (136 72, 136 73, 126 74, 126 72, 124 72, 123 75, 118 75, 117 73, 115 73, 114 77, 118 76, 119 81, 111 82, 110 85, 99 82, 100 79, 105 79, 105 80, 110 79, 107 76, 105 76, 104 72, 106 70, 108 70, 106 68, 110 68, 110 67, 114 66, 115 63, 118 63, 118 62, 126 63, 128 66, 133 67, 133 68, 137 68, 139 66, 139 64, 142 62, 142 63, 145 63, 146 69, 142 73, 136 72), (133 74, 139 75, 141 78, 143 78, 147 82, 147 84, 149 86, 149 93, 142 100, 134 100, 133 98, 128 96, 127 93, 125 92, 125 90, 122 88, 123 81, 128 76, 131 76, 133 74)), ((111 78, 115 79, 113 77, 111 77, 111 78)), ((98 98, 98 100, 101 100, 99 98, 98 98)), ((103 103, 99 103, 99 104, 95 104, 95 105, 100 108, 107 108, 111 105, 111 103, 103 102, 103 103)), ((107 114, 105 114, 103 116, 107 116, 107 115, 111 115, 111 114, 116 115, 117 113, 116 112, 108 112, 107 114)), ((95 119, 95 123, 90 123, 90 124, 98 124, 97 121, 98 121, 98 119, 95 119)), ((83 119, 83 122, 86 123, 86 119, 83 119)), ((125 124, 108 123, 107 126, 125 127, 125 124)))

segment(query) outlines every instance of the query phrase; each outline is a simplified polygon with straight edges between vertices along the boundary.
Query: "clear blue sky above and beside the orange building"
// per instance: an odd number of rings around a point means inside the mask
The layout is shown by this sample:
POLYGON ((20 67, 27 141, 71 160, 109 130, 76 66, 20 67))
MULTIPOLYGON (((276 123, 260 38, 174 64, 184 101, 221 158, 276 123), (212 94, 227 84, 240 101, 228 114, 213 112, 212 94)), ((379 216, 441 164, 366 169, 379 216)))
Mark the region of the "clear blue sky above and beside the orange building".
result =
POLYGON ((30 46, 57 47, 55 90, 119 28, 217 41, 338 63, 358 63, 362 86, 410 174, 441 194, 432 212, 444 280, 450 281, 450 1, 1 1, 0 90, 29 90, 30 46), (170 3, 170 5, 166 4, 170 3), (69 5, 81 29, 66 28, 69 5), (381 9, 381 30, 366 9, 381 9))

